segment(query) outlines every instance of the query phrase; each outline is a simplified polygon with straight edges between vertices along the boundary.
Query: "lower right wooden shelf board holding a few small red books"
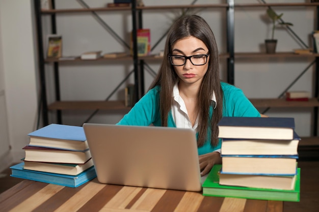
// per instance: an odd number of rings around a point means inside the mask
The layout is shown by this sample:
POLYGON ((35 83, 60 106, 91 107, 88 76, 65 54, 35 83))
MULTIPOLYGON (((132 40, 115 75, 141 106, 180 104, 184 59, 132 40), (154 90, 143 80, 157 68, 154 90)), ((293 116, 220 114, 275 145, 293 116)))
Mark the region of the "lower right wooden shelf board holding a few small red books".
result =
POLYGON ((255 107, 318 107, 319 101, 311 98, 309 101, 286 101, 285 99, 249 99, 255 107))

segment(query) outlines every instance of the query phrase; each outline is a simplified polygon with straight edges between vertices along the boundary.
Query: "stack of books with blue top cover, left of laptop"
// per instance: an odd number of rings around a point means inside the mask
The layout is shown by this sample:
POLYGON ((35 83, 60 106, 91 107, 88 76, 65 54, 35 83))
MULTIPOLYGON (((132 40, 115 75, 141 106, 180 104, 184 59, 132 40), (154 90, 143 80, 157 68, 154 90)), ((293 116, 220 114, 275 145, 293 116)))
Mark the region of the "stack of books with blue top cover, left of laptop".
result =
POLYGON ((96 177, 82 127, 51 124, 29 134, 23 162, 10 167, 11 176, 67 187, 96 177))

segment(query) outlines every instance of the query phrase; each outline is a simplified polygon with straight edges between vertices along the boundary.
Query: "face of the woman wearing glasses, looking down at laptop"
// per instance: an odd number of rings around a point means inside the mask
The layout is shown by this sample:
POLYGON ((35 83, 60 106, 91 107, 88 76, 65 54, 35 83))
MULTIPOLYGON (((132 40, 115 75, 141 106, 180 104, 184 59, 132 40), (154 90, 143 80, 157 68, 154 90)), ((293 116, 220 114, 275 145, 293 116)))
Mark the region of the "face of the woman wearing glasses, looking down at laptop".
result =
MULTIPOLYGON (((208 48, 206 45, 199 39, 195 37, 187 37, 178 40, 172 46, 172 55, 181 55, 181 56, 193 56, 200 54, 208 54, 208 48)), ((172 57, 175 60, 176 64, 182 64, 179 60, 183 60, 182 57, 172 57)), ((204 75, 208 69, 208 60, 209 56, 198 56, 192 57, 191 63, 190 59, 186 59, 186 62, 182 66, 174 66, 175 72, 180 78, 180 82, 185 84, 198 84, 200 85, 204 75), (204 65, 195 66, 194 64, 202 64, 206 62, 204 65)))

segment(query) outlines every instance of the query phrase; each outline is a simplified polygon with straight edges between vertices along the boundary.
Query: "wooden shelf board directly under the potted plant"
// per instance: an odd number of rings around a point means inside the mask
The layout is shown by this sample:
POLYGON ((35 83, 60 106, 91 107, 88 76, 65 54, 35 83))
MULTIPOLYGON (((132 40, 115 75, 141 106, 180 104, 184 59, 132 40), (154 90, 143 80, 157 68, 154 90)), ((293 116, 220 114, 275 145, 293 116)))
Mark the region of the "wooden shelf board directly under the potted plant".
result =
POLYGON ((276 52, 274 54, 261 52, 238 52, 234 57, 237 58, 252 58, 252 57, 317 57, 319 54, 295 54, 294 52, 276 52))

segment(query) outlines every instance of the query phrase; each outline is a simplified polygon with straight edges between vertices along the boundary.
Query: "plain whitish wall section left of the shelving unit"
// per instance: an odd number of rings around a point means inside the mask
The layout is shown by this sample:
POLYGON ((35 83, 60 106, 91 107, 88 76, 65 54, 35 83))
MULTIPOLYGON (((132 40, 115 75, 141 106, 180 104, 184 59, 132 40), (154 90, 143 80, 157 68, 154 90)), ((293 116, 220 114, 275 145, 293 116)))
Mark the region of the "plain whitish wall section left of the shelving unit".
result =
MULTIPOLYGON (((24 157, 22 147, 35 128, 37 114, 36 60, 31 0, 0 1, 2 65, 7 96, 9 136, 14 161, 24 157)), ((0 167, 1 168, 1 167, 0 167)))

